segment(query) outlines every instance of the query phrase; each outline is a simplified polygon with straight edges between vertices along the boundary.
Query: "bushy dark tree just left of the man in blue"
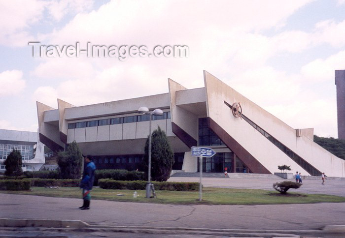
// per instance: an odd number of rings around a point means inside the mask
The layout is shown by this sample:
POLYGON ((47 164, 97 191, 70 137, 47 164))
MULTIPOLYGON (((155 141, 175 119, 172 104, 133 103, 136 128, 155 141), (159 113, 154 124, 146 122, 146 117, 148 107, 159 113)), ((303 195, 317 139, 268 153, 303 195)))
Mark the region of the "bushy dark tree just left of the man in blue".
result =
POLYGON ((57 155, 60 176, 63 179, 79 179, 83 157, 78 144, 73 141, 66 151, 60 151, 57 155))

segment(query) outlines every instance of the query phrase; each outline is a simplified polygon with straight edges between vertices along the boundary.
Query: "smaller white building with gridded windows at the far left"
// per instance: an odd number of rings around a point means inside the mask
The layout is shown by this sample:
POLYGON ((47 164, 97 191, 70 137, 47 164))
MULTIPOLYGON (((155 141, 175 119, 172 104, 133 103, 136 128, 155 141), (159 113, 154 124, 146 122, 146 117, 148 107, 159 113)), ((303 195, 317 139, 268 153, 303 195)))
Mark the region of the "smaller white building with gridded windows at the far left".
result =
POLYGON ((5 171, 3 162, 14 149, 22 155, 23 171, 38 171, 45 163, 37 132, 0 129, 0 172, 5 171))

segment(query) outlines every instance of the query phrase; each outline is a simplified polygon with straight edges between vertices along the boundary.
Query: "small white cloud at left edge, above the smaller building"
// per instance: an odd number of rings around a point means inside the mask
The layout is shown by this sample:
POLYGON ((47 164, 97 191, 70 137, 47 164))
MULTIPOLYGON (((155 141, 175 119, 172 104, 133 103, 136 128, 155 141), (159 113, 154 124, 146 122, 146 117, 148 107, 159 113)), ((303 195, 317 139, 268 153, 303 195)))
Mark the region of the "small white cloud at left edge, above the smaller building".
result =
POLYGON ((20 70, 7 70, 0 73, 0 97, 17 95, 25 88, 23 72, 20 70))

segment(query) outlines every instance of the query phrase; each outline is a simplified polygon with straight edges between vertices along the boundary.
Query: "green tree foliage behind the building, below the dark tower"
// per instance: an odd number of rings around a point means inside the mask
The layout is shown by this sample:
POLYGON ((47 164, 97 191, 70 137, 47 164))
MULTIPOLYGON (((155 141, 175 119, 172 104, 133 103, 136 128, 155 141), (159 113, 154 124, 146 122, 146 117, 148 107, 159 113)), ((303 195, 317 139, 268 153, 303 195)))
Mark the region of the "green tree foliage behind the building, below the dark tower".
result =
POLYGON ((345 140, 314 135, 314 142, 339 158, 345 159, 345 140))

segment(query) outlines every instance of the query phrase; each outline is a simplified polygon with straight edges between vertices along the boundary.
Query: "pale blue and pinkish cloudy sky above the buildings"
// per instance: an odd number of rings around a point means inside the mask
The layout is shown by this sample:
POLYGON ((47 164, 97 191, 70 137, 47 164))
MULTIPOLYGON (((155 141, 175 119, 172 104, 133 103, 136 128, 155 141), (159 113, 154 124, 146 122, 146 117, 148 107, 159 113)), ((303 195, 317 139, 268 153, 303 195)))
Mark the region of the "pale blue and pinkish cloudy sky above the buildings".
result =
POLYGON ((36 101, 81 106, 204 87, 207 70, 294 128, 338 137, 345 0, 0 0, 0 128, 37 130, 36 101), (186 45, 188 58, 33 57, 39 45, 186 45))

